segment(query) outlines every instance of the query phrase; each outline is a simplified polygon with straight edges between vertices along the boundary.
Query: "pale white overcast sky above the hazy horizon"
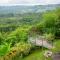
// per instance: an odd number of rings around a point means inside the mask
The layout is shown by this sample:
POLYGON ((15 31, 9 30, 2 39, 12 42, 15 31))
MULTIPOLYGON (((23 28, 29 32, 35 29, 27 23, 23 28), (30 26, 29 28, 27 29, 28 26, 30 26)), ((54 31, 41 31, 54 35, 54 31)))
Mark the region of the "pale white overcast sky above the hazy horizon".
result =
POLYGON ((60 0, 0 0, 0 5, 47 5, 60 4, 60 0))

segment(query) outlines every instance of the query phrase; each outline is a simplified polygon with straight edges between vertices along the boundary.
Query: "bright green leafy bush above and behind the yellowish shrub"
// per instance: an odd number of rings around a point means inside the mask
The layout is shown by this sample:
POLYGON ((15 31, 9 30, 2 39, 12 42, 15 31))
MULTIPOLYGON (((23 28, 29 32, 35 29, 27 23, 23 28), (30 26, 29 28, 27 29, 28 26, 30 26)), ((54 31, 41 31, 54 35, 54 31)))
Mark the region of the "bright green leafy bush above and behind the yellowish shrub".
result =
POLYGON ((18 43, 20 41, 27 41, 28 39, 28 32, 26 29, 17 29, 16 31, 13 31, 6 39, 8 43, 11 43, 14 45, 15 43, 18 43))

